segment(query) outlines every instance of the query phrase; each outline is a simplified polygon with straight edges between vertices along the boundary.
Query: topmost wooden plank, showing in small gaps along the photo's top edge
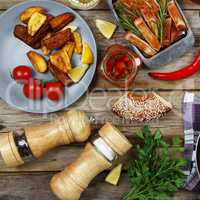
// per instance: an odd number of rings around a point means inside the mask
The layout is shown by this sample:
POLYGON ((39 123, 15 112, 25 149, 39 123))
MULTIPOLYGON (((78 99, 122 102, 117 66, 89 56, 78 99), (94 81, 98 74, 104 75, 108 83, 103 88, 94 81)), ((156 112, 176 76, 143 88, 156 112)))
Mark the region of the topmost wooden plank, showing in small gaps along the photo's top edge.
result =
MULTIPOLYGON (((7 8, 9 8, 9 7, 11 7, 11 6, 13 6, 17 3, 23 2, 23 1, 24 0, 10 0, 10 1, 0 0, 0 9, 7 9, 7 8)), ((56 1, 67 5, 66 0, 56 0, 56 1)), ((182 3, 181 1, 182 0, 179 0, 180 3, 182 3)), ((182 6, 183 6, 184 9, 194 9, 194 10, 200 9, 199 5, 194 4, 194 3, 190 2, 189 0, 184 1, 184 4, 182 6)), ((95 10, 97 10, 97 9, 103 9, 103 10, 108 9, 106 0, 101 0, 100 4, 94 9, 95 10)))

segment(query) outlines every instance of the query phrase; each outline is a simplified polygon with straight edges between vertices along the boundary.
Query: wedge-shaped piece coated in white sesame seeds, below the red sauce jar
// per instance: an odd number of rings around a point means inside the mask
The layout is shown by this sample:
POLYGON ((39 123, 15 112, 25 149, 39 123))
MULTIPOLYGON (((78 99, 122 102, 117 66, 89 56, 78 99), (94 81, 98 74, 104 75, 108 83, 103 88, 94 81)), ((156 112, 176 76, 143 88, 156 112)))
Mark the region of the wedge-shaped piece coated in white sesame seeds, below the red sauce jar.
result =
POLYGON ((119 117, 133 121, 159 119, 172 109, 172 105, 154 92, 144 96, 126 93, 112 107, 119 117))

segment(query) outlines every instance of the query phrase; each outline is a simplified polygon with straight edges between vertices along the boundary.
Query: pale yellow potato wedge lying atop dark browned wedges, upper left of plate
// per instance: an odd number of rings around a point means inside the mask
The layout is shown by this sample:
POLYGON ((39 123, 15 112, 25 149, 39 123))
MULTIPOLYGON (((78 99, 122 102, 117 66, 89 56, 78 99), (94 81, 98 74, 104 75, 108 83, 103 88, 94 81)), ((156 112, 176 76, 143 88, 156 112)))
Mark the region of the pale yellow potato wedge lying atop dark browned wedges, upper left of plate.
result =
POLYGON ((34 13, 28 22, 28 34, 34 36, 44 25, 47 20, 47 16, 38 12, 34 13))

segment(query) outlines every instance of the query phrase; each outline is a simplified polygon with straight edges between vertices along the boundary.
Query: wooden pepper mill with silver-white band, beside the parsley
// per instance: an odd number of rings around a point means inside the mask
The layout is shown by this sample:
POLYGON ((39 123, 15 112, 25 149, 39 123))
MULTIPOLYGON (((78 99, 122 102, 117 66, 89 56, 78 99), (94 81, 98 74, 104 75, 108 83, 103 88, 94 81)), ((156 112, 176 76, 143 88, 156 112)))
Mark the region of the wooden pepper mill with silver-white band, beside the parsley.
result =
POLYGON ((88 143, 80 157, 51 180, 54 194, 61 200, 78 200, 92 179, 112 167, 132 145, 120 131, 107 123, 99 137, 88 143))

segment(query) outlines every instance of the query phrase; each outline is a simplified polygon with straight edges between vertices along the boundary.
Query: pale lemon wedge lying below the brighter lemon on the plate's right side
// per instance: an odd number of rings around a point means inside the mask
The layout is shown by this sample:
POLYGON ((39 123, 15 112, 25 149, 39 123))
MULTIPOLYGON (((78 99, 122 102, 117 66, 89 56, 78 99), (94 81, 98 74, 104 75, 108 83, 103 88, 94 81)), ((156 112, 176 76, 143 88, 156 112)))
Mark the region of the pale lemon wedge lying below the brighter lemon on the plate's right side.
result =
POLYGON ((87 64, 75 67, 68 72, 68 76, 72 79, 74 83, 78 83, 83 78, 88 68, 89 65, 87 64))

